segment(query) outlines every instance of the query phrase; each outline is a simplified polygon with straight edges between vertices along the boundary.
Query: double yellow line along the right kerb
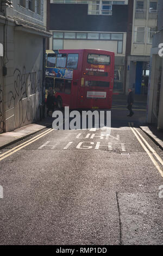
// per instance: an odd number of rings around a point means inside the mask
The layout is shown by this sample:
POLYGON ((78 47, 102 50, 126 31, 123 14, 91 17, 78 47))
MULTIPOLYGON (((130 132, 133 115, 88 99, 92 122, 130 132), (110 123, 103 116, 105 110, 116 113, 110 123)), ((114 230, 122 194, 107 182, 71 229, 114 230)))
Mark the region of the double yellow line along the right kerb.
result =
POLYGON ((163 165, 163 161, 161 159, 161 157, 155 152, 155 150, 148 144, 148 142, 145 140, 145 138, 143 138, 143 136, 140 134, 140 132, 138 132, 138 130, 135 127, 131 126, 131 123, 129 123, 129 127, 131 128, 132 132, 134 133, 134 135, 136 136, 137 140, 140 142, 141 146, 143 147, 143 149, 147 152, 149 158, 151 158, 153 164, 155 165, 156 169, 158 169, 158 171, 160 172, 162 178, 163 178, 163 171, 160 168, 160 165, 156 162, 156 160, 154 159, 153 155, 155 156, 156 159, 158 159, 158 161, 160 162, 161 165, 163 165), (141 140, 141 139, 142 140, 141 140), (143 142, 145 142, 145 144, 143 144, 143 142), (147 148, 148 147, 148 148, 147 148), (151 152, 152 153, 151 153, 151 152), (152 155, 153 154, 153 155, 152 155))

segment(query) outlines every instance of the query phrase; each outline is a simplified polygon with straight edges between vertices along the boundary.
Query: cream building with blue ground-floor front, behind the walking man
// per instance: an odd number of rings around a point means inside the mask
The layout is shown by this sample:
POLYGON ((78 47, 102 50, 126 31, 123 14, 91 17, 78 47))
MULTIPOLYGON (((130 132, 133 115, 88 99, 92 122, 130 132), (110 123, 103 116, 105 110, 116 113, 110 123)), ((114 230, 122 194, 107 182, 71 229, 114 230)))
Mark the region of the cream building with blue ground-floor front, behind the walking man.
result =
POLYGON ((126 93, 133 88, 136 94, 147 94, 152 38, 156 33, 157 0, 133 0, 133 29, 131 54, 127 59, 126 93), (145 84, 145 87, 143 87, 145 84))

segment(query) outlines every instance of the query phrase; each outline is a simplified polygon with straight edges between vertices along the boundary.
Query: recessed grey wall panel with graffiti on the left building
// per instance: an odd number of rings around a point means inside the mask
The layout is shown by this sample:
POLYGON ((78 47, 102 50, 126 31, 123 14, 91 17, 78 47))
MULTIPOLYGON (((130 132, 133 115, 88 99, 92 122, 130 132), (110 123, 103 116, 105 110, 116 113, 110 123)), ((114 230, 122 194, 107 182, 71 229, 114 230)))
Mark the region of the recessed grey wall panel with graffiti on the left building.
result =
POLYGON ((8 27, 5 76, 5 131, 39 119, 42 102, 42 37, 8 27))

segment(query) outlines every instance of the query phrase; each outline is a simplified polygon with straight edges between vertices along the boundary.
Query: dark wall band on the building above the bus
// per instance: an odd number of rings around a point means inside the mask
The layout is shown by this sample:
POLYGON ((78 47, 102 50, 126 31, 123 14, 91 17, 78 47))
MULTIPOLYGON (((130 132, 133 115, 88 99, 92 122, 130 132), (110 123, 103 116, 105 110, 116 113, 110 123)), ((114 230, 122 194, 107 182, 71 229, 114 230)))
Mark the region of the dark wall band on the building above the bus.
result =
POLYGON ((87 4, 50 4, 52 31, 127 32, 128 5, 113 5, 112 15, 88 15, 87 4))

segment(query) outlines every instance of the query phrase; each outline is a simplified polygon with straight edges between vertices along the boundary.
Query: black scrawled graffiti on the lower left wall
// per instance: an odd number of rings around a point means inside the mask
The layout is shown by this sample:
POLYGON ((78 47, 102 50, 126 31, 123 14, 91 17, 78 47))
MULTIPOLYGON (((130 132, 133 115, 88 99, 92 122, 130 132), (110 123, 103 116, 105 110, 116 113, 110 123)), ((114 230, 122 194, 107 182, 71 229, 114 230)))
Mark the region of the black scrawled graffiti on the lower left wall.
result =
POLYGON ((26 67, 14 71, 14 86, 8 92, 8 109, 14 109, 15 128, 34 122, 39 118, 42 99, 41 70, 26 72, 26 67))

